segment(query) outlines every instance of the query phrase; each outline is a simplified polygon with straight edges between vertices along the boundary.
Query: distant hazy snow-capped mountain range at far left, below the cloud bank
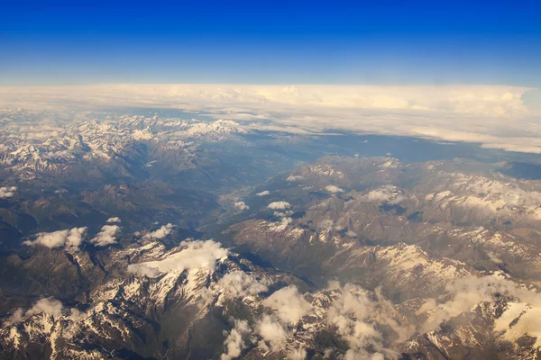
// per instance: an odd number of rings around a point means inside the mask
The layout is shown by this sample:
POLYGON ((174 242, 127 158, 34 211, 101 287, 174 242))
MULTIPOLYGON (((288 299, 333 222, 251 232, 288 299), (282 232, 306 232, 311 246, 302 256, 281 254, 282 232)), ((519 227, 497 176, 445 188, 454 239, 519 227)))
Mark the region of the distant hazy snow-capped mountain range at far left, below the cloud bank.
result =
POLYGON ((0 130, 0 139, 5 140, 0 148, 0 169, 23 181, 68 174, 76 179, 103 179, 110 174, 137 177, 151 170, 152 164, 160 163, 164 156, 177 153, 184 154, 181 159, 176 157, 177 164, 180 160, 185 169, 193 168, 201 141, 220 141, 249 133, 234 121, 186 121, 156 116, 56 121, 41 136, 33 132, 29 135, 25 132, 29 128, 26 122, 11 121, 10 126, 0 130))

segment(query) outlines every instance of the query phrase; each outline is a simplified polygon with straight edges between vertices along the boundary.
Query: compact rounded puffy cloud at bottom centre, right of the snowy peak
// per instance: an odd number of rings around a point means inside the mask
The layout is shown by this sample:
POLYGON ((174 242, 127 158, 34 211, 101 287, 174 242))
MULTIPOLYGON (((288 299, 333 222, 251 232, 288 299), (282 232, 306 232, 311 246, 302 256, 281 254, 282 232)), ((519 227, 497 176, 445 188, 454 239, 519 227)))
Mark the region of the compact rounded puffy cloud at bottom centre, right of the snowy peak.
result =
POLYGON ((284 323, 296 323, 312 311, 312 305, 305 300, 301 293, 298 293, 295 285, 289 285, 272 293, 262 304, 276 310, 278 317, 284 323))

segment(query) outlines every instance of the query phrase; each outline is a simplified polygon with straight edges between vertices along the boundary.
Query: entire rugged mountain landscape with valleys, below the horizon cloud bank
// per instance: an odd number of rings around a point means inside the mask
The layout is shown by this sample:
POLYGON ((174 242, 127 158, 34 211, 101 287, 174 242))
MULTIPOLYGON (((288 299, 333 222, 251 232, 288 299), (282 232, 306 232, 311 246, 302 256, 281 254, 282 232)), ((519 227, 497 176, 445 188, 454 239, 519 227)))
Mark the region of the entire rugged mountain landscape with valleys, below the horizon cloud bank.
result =
POLYGON ((539 356, 541 180, 514 157, 0 113, 2 358, 539 356))

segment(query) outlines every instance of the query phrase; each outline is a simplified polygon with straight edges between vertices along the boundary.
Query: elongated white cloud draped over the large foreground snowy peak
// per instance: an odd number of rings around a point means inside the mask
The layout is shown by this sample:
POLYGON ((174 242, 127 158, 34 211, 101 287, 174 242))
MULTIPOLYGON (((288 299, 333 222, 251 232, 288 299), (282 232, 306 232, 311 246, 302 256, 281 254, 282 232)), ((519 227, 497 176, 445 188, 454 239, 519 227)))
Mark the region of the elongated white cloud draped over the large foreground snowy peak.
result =
POLYGON ((180 251, 167 254, 163 259, 128 266, 128 272, 150 277, 162 273, 182 273, 184 270, 213 272, 216 260, 227 257, 228 250, 213 240, 188 240, 180 243, 180 251))

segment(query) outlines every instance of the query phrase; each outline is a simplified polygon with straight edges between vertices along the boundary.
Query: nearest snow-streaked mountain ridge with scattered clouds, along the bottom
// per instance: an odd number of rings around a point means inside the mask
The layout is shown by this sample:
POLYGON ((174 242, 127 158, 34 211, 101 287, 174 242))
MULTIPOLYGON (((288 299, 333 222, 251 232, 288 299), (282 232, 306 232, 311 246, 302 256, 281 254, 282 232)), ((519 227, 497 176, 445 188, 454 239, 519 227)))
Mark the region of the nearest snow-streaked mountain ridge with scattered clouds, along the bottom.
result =
MULTIPOLYGON (((46 256, 56 257, 64 250, 49 251, 46 256)), ((439 358, 473 345, 481 356, 538 351, 535 338, 498 348, 536 336, 531 320, 541 309, 538 294, 502 275, 478 278, 445 261, 426 261, 418 250, 387 248, 377 257, 387 263, 390 284, 401 286, 415 277, 408 273, 415 268, 426 272, 424 282, 445 280, 446 298, 417 293, 393 303, 385 282, 373 291, 338 282, 316 290, 295 276, 254 266, 213 240, 170 249, 152 241, 111 249, 106 262, 95 258, 106 275, 86 299, 41 298, 14 310, 0 330, 0 348, 11 356, 52 359, 394 358, 400 352, 439 358), (420 257, 404 258, 415 251, 420 257)), ((84 250, 73 258, 71 266, 92 267, 84 250)))

